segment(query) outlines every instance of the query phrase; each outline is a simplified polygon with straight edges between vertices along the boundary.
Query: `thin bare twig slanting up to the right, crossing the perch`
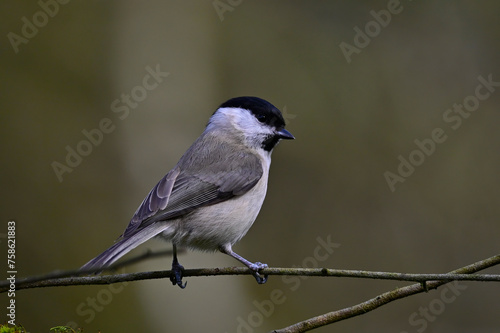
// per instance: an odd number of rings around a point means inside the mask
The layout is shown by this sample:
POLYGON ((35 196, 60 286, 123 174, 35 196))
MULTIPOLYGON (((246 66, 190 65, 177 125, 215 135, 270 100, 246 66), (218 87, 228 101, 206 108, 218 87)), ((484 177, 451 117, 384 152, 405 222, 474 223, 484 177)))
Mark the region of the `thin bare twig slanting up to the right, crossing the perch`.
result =
MULTIPOLYGON (((474 264, 459 268, 449 273, 450 276, 461 276, 463 274, 471 274, 477 271, 498 265, 500 263, 500 255, 478 261, 474 264), (457 275, 458 274, 458 275, 457 275)), ((476 275, 477 276, 477 275, 476 275)), ((434 279, 433 279, 434 280, 434 279)), ((426 292, 429 289, 436 289, 451 281, 429 281, 423 284, 413 284, 407 287, 398 288, 392 291, 385 292, 368 301, 359 303, 357 305, 347 307, 341 310, 325 313, 323 315, 304 320, 294 325, 285 327, 283 329, 274 330, 272 333, 298 333, 307 332, 315 328, 329 325, 344 319, 352 318, 373 311, 382 305, 392 301, 405 298, 411 295, 426 292)))

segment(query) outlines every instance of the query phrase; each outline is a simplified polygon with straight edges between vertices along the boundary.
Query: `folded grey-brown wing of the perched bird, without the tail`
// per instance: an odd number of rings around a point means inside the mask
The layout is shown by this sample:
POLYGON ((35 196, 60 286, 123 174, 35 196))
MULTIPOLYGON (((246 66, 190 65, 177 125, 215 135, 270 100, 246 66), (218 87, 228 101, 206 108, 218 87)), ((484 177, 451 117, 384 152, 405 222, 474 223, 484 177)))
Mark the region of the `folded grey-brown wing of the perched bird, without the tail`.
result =
POLYGON ((123 236, 242 195, 254 187, 263 173, 259 158, 242 151, 226 156, 224 160, 207 160, 203 167, 196 163, 195 167, 183 168, 179 163, 144 199, 123 236))

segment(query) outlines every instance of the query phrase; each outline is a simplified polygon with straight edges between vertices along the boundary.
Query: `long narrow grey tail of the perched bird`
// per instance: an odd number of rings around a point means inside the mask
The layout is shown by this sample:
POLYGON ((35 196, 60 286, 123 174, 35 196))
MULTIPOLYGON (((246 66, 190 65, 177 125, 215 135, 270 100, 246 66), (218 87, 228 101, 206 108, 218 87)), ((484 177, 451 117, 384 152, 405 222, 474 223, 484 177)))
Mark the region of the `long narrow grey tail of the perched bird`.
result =
POLYGON ((160 232, 167 229, 168 226, 168 223, 157 222, 145 228, 135 230, 133 234, 128 235, 126 238, 119 239, 109 249, 83 265, 80 270, 105 268, 123 257, 135 247, 158 235, 160 232))

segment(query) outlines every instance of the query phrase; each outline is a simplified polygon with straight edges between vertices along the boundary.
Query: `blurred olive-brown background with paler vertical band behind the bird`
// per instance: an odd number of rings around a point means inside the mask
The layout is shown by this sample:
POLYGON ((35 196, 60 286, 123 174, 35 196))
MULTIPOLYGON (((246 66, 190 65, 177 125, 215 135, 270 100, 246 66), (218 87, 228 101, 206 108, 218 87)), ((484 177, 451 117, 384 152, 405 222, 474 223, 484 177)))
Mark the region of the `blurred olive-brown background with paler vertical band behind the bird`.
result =
MULTIPOLYGON (((474 101, 478 77, 500 82, 498 2, 62 2, 0 4, 0 246, 6 253, 7 221, 16 221, 18 277, 75 269, 111 245, 216 107, 240 95, 286 110, 297 138, 273 154, 241 255, 277 267, 438 273, 499 252, 500 87, 457 129, 443 119, 474 101), (380 11, 393 5, 389 21, 380 11), (367 24, 372 37, 358 37, 363 47, 346 57, 340 45, 355 46, 355 28, 367 24), (148 68, 169 74, 141 90, 148 68), (139 101, 125 113, 121 98, 132 92, 139 101), (103 119, 110 133, 58 179, 53 163, 66 164, 67 146, 77 149, 103 119), (446 141, 392 191, 384 174, 397 174, 398 157, 436 128, 446 141), (334 250, 315 252, 318 237, 334 250)), ((166 246, 151 241, 133 254, 166 246)), ((169 269, 170 260, 125 271, 169 269)), ((198 252, 180 261, 237 265, 198 252)), ((406 285, 186 280, 185 290, 160 280, 18 291, 16 320, 30 332, 68 323, 89 333, 266 332, 406 285)), ((498 330, 498 284, 443 289, 317 331, 498 330)))

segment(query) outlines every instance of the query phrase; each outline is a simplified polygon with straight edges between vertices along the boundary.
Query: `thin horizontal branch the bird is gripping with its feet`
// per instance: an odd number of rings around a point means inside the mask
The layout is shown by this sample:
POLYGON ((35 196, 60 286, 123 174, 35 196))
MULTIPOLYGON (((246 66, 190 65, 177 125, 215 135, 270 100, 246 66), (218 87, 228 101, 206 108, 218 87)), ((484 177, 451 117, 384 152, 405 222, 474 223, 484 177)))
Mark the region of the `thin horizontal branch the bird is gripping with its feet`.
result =
MULTIPOLYGON (((161 255, 167 252, 162 252, 161 255)), ((124 267, 135 263, 138 260, 146 257, 158 256, 160 254, 146 253, 140 257, 133 258, 127 262, 122 262, 119 265, 110 267, 115 270, 118 267, 124 267)), ((492 258, 500 258, 500 255, 492 258)), ((491 259, 491 258, 490 258, 491 259)), ((488 259, 487 259, 488 260, 488 259)), ((500 260, 500 259, 499 259, 500 260)), ((69 271, 55 272, 45 276, 36 276, 16 281, 16 290, 28 288, 42 287, 57 287, 57 286, 77 286, 77 285, 102 285, 112 284, 125 281, 140 281, 149 279, 164 279, 170 278, 171 271, 154 271, 141 273, 126 273, 115 275, 100 275, 100 276, 81 276, 84 274, 95 273, 93 271, 69 271)), ((219 275, 248 275, 252 272, 244 267, 227 267, 227 268, 200 268, 186 269, 183 272, 184 277, 191 276, 219 276, 219 275)), ((460 272, 452 272, 448 274, 410 274, 410 273, 394 273, 394 272, 371 272, 362 270, 340 270, 327 268, 265 268, 260 271, 264 275, 296 275, 296 276, 320 276, 320 277, 347 277, 347 278, 364 278, 364 279, 385 279, 396 281, 416 281, 425 283, 427 281, 439 280, 450 282, 452 280, 460 281, 500 281, 500 275, 495 274, 459 274, 460 272)), ((0 293, 6 292, 9 289, 10 282, 0 282, 0 293)))

